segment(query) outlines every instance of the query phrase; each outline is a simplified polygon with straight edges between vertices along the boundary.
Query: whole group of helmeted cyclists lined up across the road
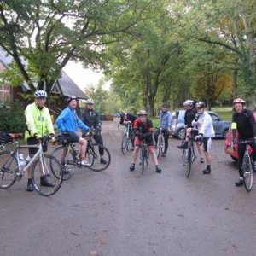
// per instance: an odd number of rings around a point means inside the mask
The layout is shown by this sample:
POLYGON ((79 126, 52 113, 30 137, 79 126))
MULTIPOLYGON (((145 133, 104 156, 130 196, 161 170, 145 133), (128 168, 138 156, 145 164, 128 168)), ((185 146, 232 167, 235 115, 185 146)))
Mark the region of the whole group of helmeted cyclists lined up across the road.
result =
MULTIPOLYGON (((28 145, 38 144, 39 137, 43 137, 45 134, 49 134, 52 137, 52 142, 55 143, 55 131, 52 124, 52 120, 49 114, 49 109, 45 107, 45 102, 47 99, 47 93, 44 90, 37 90, 34 93, 34 102, 29 104, 25 110, 26 116, 26 132, 25 138, 28 145)), ((250 146, 253 148, 253 160, 256 161, 256 122, 253 116, 253 112, 245 108, 245 101, 241 98, 237 98, 233 101, 234 113, 232 116, 232 145, 236 143, 236 138, 252 140, 250 146), (237 134, 236 134, 237 131, 237 134)), ((86 149, 87 141, 84 138, 84 132, 91 131, 92 129, 97 129, 98 132, 94 135, 96 143, 103 145, 103 139, 101 135, 102 122, 99 113, 94 109, 94 101, 92 99, 87 99, 85 102, 84 113, 81 115, 81 119, 76 113, 76 108, 78 104, 78 98, 76 96, 69 96, 67 98, 67 108, 63 109, 58 118, 55 121, 58 131, 61 134, 68 135, 72 143, 80 144, 80 158, 81 165, 90 166, 90 161, 86 159, 86 149), (83 133, 82 136, 78 134, 78 129, 83 133)), ((177 148, 188 148, 189 137, 195 137, 195 142, 197 144, 198 154, 200 156, 199 160, 201 163, 206 161, 207 167, 202 171, 203 174, 210 174, 212 172, 212 137, 214 137, 214 129, 212 125, 212 118, 206 111, 206 105, 204 102, 194 102, 192 100, 186 100, 183 102, 183 106, 186 109, 184 116, 185 124, 185 138, 183 144, 177 146, 177 148), (204 154, 204 157, 203 157, 204 154)), ((148 151, 151 154, 152 161, 155 166, 155 171, 160 173, 162 170, 158 165, 158 159, 155 154, 155 145, 157 143, 157 138, 160 130, 154 131, 153 122, 148 119, 148 113, 145 110, 140 110, 137 115, 131 113, 120 113, 120 124, 124 125, 125 122, 131 121, 132 132, 135 137, 132 141, 132 161, 130 166, 130 171, 135 170, 135 164, 137 160, 137 154, 142 141, 145 141, 148 145, 148 151)), ((172 121, 172 113, 169 110, 169 105, 164 103, 160 110, 160 128, 163 132, 165 138, 165 148, 162 153, 162 157, 166 157, 166 152, 168 149, 168 139, 170 135, 172 121)), ((232 146, 231 145, 231 146, 232 146)), ((37 148, 29 148, 29 157, 32 158, 37 152, 37 148)), ((43 148, 44 151, 47 147, 43 148)), ((236 186, 241 186, 243 181, 242 176, 242 157, 245 152, 245 145, 238 143, 238 170, 239 179, 236 181, 236 186)), ((100 152, 101 164, 106 164, 104 160, 103 150, 100 152)), ((49 177, 45 175, 41 177, 42 186, 54 186, 50 182, 49 177)), ((32 177, 31 172, 28 172, 27 181, 27 191, 32 191, 32 177)))

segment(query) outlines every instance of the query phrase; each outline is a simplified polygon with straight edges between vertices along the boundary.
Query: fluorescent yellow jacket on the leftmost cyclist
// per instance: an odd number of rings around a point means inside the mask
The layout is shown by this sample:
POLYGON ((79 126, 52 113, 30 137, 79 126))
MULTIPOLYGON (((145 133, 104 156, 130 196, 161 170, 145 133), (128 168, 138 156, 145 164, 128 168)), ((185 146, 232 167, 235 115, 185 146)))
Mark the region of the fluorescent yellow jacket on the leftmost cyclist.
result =
POLYGON ((27 126, 25 139, 33 137, 35 134, 40 137, 50 133, 55 134, 48 108, 39 109, 34 102, 26 106, 25 116, 27 126))

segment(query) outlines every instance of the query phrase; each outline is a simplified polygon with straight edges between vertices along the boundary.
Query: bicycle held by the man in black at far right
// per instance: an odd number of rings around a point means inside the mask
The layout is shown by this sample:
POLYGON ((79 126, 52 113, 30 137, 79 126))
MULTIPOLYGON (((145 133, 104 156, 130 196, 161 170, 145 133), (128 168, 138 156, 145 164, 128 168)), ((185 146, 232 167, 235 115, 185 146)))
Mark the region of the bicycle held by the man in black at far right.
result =
POLYGON ((242 160, 242 174, 245 189, 250 192, 253 188, 253 163, 251 159, 251 154, 249 153, 250 143, 254 143, 254 140, 237 140, 235 143, 242 143, 246 145, 246 150, 243 155, 242 160))

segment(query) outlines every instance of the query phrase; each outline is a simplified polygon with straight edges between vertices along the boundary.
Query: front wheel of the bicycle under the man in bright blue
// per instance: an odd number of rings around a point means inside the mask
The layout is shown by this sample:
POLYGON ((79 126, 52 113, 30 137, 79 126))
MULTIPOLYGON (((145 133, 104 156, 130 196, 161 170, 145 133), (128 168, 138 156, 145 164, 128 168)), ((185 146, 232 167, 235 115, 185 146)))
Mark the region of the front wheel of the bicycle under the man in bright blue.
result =
POLYGON ((90 143, 88 147, 87 158, 91 163, 91 166, 88 166, 88 168, 95 172, 106 170, 111 162, 111 155, 108 148, 98 143, 90 143), (100 153, 103 154, 102 157, 100 153))

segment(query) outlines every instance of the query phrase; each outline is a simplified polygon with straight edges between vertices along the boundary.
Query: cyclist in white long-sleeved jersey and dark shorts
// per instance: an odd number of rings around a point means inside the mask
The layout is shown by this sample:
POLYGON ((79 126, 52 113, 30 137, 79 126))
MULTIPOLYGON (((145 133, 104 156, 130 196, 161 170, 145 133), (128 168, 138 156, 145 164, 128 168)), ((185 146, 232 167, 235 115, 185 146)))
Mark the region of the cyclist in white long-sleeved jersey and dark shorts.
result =
POLYGON ((198 120, 193 120, 192 125, 198 126, 199 135, 195 136, 195 141, 203 143, 203 149, 205 154, 205 159, 207 161, 207 168, 202 171, 203 174, 210 174, 212 172, 212 155, 210 154, 212 148, 212 137, 215 137, 215 131, 212 125, 212 117, 205 110, 206 105, 204 102, 197 102, 195 104, 197 108, 198 120))

